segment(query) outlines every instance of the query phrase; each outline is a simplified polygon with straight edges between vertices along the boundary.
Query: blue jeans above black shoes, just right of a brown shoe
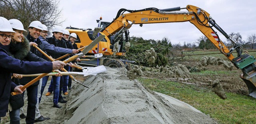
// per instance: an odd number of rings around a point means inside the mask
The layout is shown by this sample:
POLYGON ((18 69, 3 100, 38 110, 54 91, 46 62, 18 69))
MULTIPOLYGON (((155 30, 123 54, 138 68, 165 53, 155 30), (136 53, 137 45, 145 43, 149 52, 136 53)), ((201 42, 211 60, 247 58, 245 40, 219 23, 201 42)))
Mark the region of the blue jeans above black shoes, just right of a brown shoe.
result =
POLYGON ((53 91, 53 104, 58 104, 60 92, 60 77, 52 76, 52 87, 49 86, 48 92, 53 91))

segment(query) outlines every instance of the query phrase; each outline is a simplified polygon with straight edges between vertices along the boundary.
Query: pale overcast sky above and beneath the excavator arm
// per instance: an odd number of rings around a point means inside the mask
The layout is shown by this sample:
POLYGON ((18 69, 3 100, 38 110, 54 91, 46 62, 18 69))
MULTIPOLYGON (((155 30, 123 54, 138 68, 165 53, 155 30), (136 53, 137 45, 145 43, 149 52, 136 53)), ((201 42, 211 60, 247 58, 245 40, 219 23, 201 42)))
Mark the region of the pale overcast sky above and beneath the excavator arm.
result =
MULTIPOLYGON (((240 32, 242 40, 256 33, 256 0, 60 0, 63 18, 62 26, 92 28, 98 26, 96 20, 112 21, 120 8, 140 10, 144 8, 186 8, 197 6, 210 14, 216 23, 228 34, 240 32)), ((187 10, 181 10, 187 12, 187 10)), ((130 36, 143 39, 168 37, 172 44, 193 43, 203 34, 190 22, 132 25, 130 36)), ((217 30, 216 30, 217 31, 217 30)), ((219 31, 217 31, 219 32, 219 31)), ((218 33, 221 35, 221 33, 218 33)), ((220 36, 226 41, 224 36, 220 36)))

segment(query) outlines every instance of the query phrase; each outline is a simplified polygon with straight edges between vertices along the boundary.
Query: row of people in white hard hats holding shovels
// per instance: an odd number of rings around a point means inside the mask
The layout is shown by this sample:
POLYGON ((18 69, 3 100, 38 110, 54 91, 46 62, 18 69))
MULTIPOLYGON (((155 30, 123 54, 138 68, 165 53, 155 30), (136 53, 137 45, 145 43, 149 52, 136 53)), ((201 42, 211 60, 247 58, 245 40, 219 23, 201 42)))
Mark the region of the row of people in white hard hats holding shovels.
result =
MULTIPOLYGON (((21 91, 20 88, 36 78, 22 77, 22 74, 58 72, 52 76, 46 96, 53 92, 53 107, 61 108, 62 106, 58 102, 67 102, 62 93, 68 94, 67 90, 71 89, 72 81, 68 75, 60 75, 60 70, 70 71, 70 66, 62 61, 79 52, 74 43, 77 35, 75 33, 70 34, 68 30, 56 26, 52 31, 53 36, 47 37, 47 26, 39 21, 33 21, 28 26, 26 37, 23 35, 24 31, 27 30, 24 29, 19 20, 7 20, 0 17, 0 117, 6 116, 6 112, 9 110, 10 124, 20 124, 20 117, 22 117, 20 116, 20 108, 24 105, 24 91, 21 91), (39 47, 48 57, 33 45, 39 47), (70 56, 64 57, 60 61, 49 59, 49 57, 57 59, 66 54, 70 54, 70 56), (20 94, 11 96, 11 92, 20 94)), ((80 61, 80 59, 78 58, 72 63, 76 61, 80 61)), ((24 116, 23 113, 22 115, 26 118, 27 124, 50 119, 40 115, 39 111, 39 104, 48 77, 45 76, 26 88, 27 115, 24 116)))

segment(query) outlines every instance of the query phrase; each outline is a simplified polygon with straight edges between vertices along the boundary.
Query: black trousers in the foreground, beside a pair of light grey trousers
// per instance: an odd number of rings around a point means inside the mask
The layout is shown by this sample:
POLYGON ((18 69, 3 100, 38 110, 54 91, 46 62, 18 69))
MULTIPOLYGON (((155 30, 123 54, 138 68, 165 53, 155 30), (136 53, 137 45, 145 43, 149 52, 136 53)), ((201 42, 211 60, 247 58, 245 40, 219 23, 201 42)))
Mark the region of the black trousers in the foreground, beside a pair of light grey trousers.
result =
MULTIPOLYGON (((38 89, 38 85, 31 85, 26 89, 26 91, 28 92, 27 93, 28 109, 27 109, 26 124, 33 124, 35 120, 37 89, 38 89)), ((23 92, 23 96, 24 96, 24 93, 25 92, 23 92)))

